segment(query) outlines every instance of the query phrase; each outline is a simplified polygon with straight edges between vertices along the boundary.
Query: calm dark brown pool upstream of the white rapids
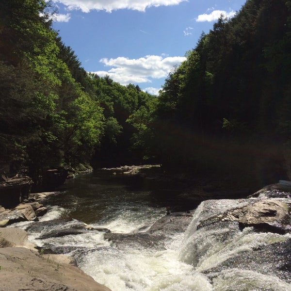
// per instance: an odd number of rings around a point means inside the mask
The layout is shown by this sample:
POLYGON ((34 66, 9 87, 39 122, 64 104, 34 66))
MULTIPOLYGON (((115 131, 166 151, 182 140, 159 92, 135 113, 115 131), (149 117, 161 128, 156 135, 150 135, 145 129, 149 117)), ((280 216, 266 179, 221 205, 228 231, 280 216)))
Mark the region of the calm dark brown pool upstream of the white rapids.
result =
POLYGON ((87 224, 103 224, 126 212, 138 216, 190 210, 194 205, 178 198, 178 185, 141 177, 113 175, 102 171, 79 175, 65 182, 62 194, 49 198, 48 204, 65 209, 63 218, 74 218, 87 224))

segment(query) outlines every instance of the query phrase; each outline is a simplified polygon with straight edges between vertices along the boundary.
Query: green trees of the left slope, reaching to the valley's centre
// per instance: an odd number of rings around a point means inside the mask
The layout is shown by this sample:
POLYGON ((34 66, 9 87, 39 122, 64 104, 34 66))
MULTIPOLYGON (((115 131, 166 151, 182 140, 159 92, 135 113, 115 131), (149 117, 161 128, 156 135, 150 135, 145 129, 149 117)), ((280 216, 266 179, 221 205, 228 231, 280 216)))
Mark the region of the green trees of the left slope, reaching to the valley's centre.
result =
POLYGON ((128 117, 155 102, 138 86, 87 73, 53 30, 45 0, 0 1, 0 174, 139 161, 128 117))

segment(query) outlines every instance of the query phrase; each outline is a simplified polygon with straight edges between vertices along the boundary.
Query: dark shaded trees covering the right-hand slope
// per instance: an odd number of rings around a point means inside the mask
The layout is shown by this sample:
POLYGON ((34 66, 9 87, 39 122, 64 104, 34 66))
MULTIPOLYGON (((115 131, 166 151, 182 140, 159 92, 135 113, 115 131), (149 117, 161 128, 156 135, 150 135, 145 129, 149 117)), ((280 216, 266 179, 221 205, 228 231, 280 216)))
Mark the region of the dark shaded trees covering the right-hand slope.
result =
POLYGON ((246 1, 186 57, 157 106, 130 116, 135 146, 165 168, 291 178, 291 1, 246 1))

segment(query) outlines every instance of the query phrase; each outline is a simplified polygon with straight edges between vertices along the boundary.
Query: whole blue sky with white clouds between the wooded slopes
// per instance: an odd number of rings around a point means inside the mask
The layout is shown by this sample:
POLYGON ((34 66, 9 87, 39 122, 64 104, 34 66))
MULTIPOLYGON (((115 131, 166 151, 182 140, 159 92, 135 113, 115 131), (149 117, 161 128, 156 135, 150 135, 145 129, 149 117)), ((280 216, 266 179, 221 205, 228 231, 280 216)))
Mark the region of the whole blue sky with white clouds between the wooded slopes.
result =
POLYGON ((53 0, 53 28, 82 67, 158 95, 202 32, 246 0, 53 0))

